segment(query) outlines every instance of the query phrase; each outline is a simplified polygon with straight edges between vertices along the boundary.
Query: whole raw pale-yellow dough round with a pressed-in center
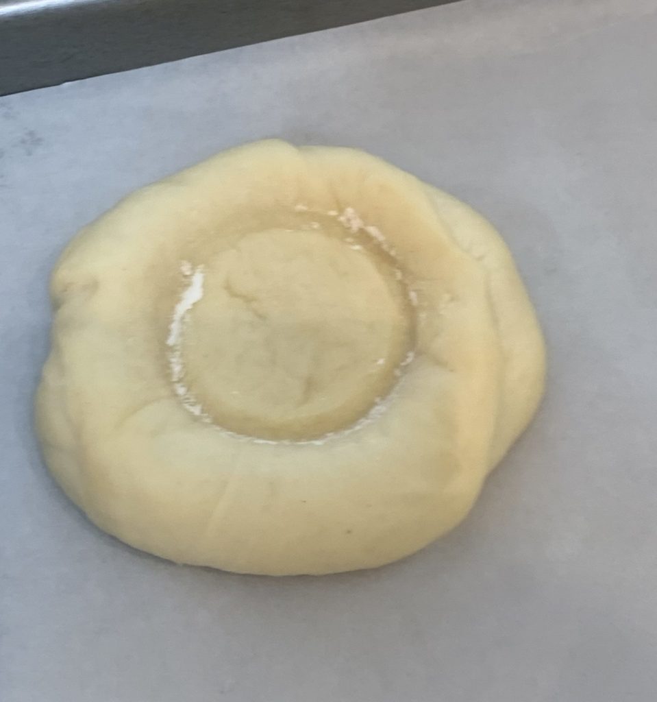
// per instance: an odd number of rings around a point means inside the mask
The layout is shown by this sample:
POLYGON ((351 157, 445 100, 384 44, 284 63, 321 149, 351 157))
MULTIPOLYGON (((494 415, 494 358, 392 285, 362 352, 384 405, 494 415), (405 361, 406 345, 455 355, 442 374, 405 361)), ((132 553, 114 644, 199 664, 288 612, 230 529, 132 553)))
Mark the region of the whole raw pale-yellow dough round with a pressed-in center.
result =
POLYGON ((95 524, 176 562, 323 574, 419 550, 543 392, 499 235, 356 150, 264 141, 135 192, 51 293, 46 462, 95 524))

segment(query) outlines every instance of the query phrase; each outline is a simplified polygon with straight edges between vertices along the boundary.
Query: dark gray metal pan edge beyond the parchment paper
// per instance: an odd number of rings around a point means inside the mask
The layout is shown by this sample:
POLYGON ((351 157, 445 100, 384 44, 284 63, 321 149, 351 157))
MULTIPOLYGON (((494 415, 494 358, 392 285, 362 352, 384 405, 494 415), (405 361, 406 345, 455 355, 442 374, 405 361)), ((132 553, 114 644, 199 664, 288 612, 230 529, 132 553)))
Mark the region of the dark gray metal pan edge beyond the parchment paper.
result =
POLYGON ((0 95, 454 0, 0 0, 0 95))

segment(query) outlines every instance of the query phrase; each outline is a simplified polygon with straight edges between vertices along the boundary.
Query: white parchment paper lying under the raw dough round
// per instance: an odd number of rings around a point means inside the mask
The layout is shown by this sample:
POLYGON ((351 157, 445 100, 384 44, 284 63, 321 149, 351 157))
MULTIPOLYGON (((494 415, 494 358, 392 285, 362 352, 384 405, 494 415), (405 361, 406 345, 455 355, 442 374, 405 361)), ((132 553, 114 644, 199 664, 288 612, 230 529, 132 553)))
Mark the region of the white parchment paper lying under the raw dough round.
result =
POLYGON ((653 702, 657 4, 463 0, 0 98, 4 702, 653 702), (133 188, 266 136, 363 147, 513 249, 548 394, 470 518, 323 578, 180 567, 39 459, 46 277, 133 188))

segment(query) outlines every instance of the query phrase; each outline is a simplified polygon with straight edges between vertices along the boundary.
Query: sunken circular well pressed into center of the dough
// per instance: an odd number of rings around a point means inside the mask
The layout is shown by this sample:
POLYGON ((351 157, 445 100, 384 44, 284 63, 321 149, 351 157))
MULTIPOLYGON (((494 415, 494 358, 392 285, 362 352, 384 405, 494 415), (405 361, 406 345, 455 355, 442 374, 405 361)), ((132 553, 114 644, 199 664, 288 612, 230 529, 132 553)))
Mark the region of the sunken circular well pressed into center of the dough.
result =
POLYGON ((180 355, 189 395, 213 423, 313 439, 388 394, 412 341, 408 296, 385 256, 350 242, 271 229, 203 263, 180 355))

